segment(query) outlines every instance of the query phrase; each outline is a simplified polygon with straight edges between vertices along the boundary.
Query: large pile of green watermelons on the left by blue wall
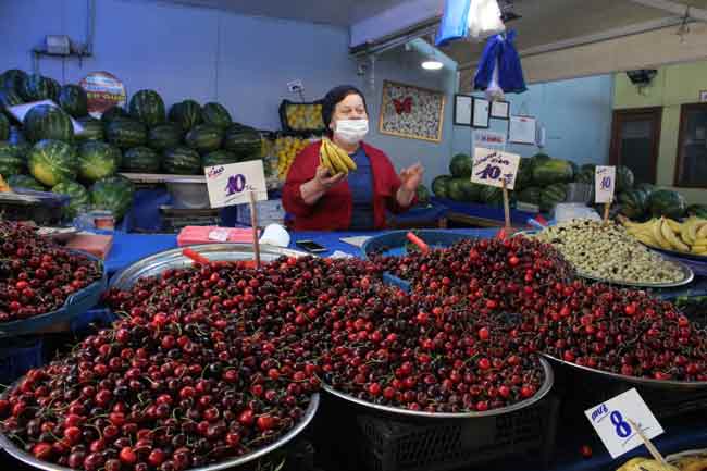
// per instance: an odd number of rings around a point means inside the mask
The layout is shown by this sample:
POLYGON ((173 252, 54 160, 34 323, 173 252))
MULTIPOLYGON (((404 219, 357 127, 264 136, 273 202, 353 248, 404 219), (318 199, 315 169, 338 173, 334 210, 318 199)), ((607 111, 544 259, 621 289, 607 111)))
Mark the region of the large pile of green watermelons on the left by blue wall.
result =
POLYGON ((260 133, 233 122, 220 103, 184 100, 168 112, 157 91, 139 90, 126 109, 114 107, 100 120, 88 115, 87 103, 77 85, 20 70, 0 74, 0 175, 11 187, 71 196, 67 218, 88 208, 122 218, 134 189, 117 172, 201 175, 207 165, 262 157, 260 133), (59 107, 36 106, 22 123, 7 111, 45 99, 59 107))

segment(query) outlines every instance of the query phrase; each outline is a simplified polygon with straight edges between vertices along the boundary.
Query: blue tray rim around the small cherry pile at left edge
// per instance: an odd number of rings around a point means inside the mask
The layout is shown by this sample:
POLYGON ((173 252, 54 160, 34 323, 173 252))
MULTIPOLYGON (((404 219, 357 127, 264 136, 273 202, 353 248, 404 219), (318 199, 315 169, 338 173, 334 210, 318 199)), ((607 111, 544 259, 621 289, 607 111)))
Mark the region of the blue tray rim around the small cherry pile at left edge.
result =
POLYGON ((99 262, 103 272, 102 276, 85 288, 71 294, 69 297, 66 297, 64 305, 55 311, 35 315, 28 319, 23 319, 20 321, 0 323, 0 338, 37 333, 50 325, 70 321, 73 318, 83 314, 98 303, 108 282, 106 265, 103 264, 102 260, 90 253, 80 250, 74 251, 99 262))

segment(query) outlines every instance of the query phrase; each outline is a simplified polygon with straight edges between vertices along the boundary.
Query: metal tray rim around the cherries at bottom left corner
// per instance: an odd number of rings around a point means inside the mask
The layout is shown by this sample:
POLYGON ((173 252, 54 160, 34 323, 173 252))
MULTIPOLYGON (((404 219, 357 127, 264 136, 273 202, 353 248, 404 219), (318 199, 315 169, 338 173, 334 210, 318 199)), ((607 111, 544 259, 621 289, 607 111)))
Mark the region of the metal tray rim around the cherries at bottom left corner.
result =
MULTIPOLYGON (((15 383, 15 385, 16 384, 18 384, 18 382, 15 383)), ((0 395, 0 397, 5 398, 8 392, 10 392, 11 389, 12 388, 8 388, 2 395, 0 395)), ((302 420, 299 423, 297 423, 297 425, 295 425, 293 430, 287 432, 285 435, 281 436, 277 441, 271 443, 266 447, 260 448, 258 450, 251 451, 246 455, 241 455, 237 458, 232 458, 222 462, 218 462, 218 463, 213 463, 200 468, 190 468, 188 471, 218 471, 227 468, 235 468, 245 464, 249 461, 252 461, 255 459, 261 458, 272 451, 275 451, 276 449, 287 444, 287 442, 295 438, 307 425, 309 425, 309 423, 314 418, 314 414, 317 413, 318 407, 319 407, 319 394, 314 394, 309 401, 309 406, 305 411, 305 416, 302 417, 302 420)), ((33 468, 37 468, 45 471, 74 471, 72 468, 61 467, 59 464, 38 460, 37 458, 29 455, 28 453, 25 453, 20 448, 17 448, 15 444, 2 433, 0 433, 0 448, 3 448, 8 453, 8 455, 12 456, 13 458, 33 468)))

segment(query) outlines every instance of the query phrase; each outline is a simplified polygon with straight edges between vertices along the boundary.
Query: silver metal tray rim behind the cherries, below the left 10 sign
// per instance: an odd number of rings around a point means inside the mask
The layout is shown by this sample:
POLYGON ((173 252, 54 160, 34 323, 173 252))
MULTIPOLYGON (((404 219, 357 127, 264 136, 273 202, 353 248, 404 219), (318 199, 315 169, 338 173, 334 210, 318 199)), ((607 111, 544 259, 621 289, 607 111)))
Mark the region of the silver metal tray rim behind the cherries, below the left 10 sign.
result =
MULTIPOLYGON (((190 267, 194 261, 182 255, 184 248, 179 247, 176 249, 165 250, 133 263, 116 273, 111 278, 109 287, 128 289, 139 278, 157 276, 169 269, 183 269, 190 267)), ((252 260, 255 257, 252 245, 250 244, 203 244, 189 246, 188 248, 212 261, 252 260)), ((309 253, 299 250, 284 249, 275 246, 260 246, 260 260, 263 262, 276 260, 282 256, 302 257, 308 255, 309 253)))

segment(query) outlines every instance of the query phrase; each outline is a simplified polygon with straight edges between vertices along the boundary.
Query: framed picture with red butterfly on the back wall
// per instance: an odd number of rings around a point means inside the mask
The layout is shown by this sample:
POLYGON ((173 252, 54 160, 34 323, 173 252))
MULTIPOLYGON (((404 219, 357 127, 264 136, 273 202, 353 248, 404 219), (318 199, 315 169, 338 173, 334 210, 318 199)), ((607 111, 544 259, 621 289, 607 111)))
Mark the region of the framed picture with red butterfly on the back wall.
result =
POLYGON ((441 142, 444 110, 442 91, 384 80, 379 132, 441 142))

